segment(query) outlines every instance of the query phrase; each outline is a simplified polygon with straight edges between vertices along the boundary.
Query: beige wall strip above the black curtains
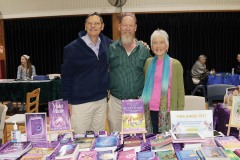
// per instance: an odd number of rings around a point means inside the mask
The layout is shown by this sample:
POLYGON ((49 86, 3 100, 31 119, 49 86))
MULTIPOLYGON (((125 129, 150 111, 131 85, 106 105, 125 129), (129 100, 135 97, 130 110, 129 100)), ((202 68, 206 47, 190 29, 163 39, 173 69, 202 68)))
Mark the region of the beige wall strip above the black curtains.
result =
MULTIPOLYGON (((240 0, 127 0, 123 12, 240 11, 240 0)), ((108 0, 0 0, 4 19, 119 13, 108 0)))

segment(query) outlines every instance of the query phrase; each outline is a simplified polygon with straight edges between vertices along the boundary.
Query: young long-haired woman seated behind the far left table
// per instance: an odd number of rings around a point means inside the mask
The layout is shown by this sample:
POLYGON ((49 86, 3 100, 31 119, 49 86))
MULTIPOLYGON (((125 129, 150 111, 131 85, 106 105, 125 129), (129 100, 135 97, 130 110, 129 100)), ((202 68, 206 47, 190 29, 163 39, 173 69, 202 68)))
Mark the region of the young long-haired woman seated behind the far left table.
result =
POLYGON ((30 56, 21 56, 21 65, 18 66, 17 79, 29 80, 36 75, 36 69, 31 64, 30 56))

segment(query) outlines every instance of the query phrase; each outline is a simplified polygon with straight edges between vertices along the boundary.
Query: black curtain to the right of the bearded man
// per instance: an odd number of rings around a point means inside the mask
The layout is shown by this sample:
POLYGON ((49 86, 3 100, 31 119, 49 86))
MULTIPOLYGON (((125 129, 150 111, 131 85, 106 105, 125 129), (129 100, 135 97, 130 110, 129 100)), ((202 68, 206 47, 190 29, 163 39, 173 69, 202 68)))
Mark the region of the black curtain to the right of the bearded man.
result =
POLYGON ((136 37, 150 44, 156 29, 169 35, 169 55, 178 59, 184 71, 191 70, 200 54, 207 56, 207 68, 230 72, 240 53, 240 12, 137 14, 136 37))

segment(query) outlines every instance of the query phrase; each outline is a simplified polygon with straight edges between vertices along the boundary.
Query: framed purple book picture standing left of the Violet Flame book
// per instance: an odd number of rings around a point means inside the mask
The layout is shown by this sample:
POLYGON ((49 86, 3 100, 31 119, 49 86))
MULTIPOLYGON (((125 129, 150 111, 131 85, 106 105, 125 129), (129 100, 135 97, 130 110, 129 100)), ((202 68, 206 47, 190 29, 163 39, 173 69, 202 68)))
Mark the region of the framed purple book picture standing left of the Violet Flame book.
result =
POLYGON ((47 122, 46 113, 26 113, 26 137, 27 141, 46 142, 47 122))

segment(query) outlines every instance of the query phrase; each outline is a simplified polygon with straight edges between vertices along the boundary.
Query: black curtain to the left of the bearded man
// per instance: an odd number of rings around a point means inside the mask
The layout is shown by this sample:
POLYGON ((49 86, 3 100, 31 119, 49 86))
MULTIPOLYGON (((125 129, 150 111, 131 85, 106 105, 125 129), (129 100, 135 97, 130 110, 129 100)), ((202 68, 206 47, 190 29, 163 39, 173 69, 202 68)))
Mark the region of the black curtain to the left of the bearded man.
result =
MULTIPOLYGON (((102 16, 103 33, 112 37, 112 17, 102 16)), ((4 20, 7 78, 17 77, 21 55, 30 56, 37 75, 61 73, 63 48, 84 30, 86 16, 4 20)))

